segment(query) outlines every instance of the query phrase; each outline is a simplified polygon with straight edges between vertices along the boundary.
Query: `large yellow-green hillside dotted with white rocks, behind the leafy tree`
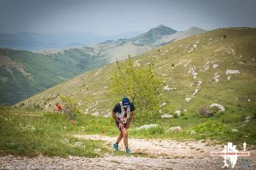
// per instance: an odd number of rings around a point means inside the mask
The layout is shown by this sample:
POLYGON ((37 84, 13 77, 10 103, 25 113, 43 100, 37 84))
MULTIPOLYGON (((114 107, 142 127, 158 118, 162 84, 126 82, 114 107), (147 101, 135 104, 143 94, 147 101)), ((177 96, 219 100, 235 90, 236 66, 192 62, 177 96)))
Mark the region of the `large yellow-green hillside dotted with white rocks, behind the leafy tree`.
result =
MULTIPOLYGON (((176 110, 198 113, 205 105, 216 103, 226 108, 227 119, 230 115, 239 119, 256 109, 255 47, 256 29, 216 29, 138 55, 134 66, 154 63, 155 73, 164 78, 166 105, 159 114, 176 110)), ((52 104, 61 102, 60 96, 72 96, 83 113, 106 115, 115 100, 108 87, 114 68, 115 64, 109 64, 93 69, 16 106, 52 110, 52 104)))

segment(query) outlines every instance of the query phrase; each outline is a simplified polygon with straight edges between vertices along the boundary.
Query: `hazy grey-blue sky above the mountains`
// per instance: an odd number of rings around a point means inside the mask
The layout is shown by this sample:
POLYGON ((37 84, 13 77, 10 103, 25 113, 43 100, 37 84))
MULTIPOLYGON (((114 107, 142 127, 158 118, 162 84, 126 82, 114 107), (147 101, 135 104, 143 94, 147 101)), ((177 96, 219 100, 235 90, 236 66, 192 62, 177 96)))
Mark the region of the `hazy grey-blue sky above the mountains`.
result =
POLYGON ((163 24, 256 27, 255 0, 0 0, 0 32, 92 31, 104 36, 163 24))

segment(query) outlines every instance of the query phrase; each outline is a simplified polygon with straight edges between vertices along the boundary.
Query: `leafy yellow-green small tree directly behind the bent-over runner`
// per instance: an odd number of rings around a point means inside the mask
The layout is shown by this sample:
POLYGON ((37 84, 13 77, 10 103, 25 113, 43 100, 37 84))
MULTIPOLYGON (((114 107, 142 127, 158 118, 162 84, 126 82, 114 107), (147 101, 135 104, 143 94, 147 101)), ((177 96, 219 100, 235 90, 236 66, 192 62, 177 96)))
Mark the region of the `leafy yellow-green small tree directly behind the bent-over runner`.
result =
POLYGON ((156 122, 159 118, 159 105, 163 92, 163 79, 153 73, 152 65, 147 68, 134 67, 131 57, 120 64, 116 61, 110 89, 111 94, 118 101, 122 97, 129 97, 136 106, 134 123, 137 125, 156 122))

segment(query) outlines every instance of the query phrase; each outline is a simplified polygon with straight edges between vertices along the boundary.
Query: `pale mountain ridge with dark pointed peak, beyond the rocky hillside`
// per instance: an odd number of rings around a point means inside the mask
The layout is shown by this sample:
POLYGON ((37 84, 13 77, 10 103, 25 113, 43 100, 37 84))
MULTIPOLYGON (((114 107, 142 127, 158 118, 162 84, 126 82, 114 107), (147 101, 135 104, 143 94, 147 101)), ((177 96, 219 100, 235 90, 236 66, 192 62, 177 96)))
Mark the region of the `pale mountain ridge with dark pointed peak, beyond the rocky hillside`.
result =
POLYGON ((135 56, 166 45, 167 43, 172 43, 173 41, 202 32, 205 32, 205 30, 197 27, 191 27, 186 31, 177 32, 170 27, 159 25, 134 38, 106 41, 93 45, 92 47, 96 53, 108 57, 109 62, 113 62, 116 59, 126 59, 128 54, 135 56))

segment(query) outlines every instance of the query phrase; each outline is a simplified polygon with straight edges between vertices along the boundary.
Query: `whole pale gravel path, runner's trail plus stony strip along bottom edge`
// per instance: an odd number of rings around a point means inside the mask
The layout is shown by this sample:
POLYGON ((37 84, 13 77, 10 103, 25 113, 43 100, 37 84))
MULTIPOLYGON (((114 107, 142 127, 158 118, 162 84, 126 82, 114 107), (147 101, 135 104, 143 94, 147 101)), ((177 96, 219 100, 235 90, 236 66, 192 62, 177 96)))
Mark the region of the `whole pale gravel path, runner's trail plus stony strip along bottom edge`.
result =
MULTIPOLYGON (((102 140, 106 141, 107 145, 116 140, 100 135, 75 135, 75 137, 102 140)), ((200 141, 182 143, 160 139, 129 139, 133 153, 145 153, 154 158, 116 156, 108 153, 96 158, 2 155, 0 169, 223 169, 223 159, 210 156, 210 152, 223 150, 222 146, 205 146, 206 144, 200 141)), ((123 148, 120 143, 120 149, 123 148)), ((256 169, 255 153, 255 150, 251 150, 250 157, 239 157, 234 169, 256 169)))

